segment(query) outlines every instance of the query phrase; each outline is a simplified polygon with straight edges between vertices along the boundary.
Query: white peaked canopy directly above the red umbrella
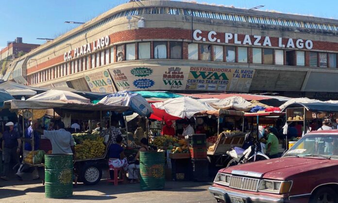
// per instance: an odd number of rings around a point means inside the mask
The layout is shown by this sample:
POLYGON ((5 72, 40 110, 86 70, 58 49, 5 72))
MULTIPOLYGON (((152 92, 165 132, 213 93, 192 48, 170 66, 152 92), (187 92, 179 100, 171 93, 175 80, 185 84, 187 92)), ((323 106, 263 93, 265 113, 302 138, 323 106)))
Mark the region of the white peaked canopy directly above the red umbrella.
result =
POLYGON ((180 97, 153 104, 156 108, 165 110, 168 114, 180 118, 191 118, 196 113, 216 110, 208 103, 190 97, 180 97))

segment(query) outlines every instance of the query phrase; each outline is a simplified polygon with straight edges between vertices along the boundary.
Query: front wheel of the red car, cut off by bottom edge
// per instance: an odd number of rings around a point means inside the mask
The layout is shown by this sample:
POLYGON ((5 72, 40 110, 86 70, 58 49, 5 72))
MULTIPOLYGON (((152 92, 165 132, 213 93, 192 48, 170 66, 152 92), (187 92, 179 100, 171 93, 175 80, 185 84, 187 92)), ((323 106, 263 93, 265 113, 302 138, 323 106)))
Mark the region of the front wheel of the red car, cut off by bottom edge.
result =
POLYGON ((338 194, 331 187, 321 187, 311 195, 309 203, 338 203, 338 194))

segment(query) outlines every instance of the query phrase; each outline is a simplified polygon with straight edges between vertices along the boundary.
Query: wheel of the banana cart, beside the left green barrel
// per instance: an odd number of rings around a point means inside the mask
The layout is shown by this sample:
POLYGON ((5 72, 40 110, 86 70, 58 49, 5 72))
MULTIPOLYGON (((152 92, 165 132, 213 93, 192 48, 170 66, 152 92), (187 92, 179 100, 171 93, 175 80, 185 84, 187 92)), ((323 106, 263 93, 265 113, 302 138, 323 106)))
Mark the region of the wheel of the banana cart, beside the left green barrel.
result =
POLYGON ((86 164, 82 169, 81 180, 85 185, 95 185, 102 177, 102 170, 94 164, 86 164))

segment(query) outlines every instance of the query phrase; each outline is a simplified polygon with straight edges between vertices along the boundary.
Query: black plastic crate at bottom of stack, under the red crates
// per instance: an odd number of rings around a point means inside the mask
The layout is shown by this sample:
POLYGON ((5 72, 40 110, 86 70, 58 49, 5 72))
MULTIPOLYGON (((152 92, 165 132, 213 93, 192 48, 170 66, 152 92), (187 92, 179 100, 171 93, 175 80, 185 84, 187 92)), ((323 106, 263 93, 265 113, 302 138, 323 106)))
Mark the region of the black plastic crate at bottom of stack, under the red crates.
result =
POLYGON ((191 179, 196 182, 210 181, 208 159, 191 159, 192 173, 191 179))

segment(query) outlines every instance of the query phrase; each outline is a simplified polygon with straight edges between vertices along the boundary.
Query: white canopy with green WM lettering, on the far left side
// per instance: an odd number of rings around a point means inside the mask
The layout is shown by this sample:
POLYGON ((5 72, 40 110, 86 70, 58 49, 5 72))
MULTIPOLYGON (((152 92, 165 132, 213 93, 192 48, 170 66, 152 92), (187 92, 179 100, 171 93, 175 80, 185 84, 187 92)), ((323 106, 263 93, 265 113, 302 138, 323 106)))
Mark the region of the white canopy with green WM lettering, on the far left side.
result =
POLYGON ((52 89, 47 92, 35 95, 27 101, 64 101, 66 103, 90 103, 90 100, 78 94, 52 89))

